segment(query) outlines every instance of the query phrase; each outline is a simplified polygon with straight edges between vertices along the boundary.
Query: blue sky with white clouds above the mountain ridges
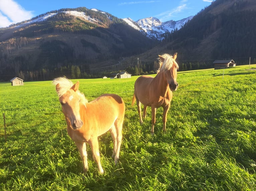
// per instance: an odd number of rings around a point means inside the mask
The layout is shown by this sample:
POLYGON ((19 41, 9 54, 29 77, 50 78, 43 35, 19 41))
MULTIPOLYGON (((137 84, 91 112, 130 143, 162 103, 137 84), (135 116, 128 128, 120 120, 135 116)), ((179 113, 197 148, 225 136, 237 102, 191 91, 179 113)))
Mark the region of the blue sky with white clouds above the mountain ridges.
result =
POLYGON ((118 18, 137 21, 156 17, 160 21, 178 21, 196 15, 212 0, 0 0, 0 27, 9 26, 61 8, 86 7, 108 12, 118 18))

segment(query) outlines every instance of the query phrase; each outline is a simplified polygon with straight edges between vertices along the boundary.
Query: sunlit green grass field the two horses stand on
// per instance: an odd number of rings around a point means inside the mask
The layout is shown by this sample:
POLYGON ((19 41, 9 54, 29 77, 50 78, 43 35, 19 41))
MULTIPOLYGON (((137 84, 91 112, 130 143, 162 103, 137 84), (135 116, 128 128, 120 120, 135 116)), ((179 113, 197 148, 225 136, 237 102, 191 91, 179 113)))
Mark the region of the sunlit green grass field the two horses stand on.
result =
POLYGON ((51 81, 0 83, 0 190, 254 191, 256 70, 248 69, 179 72, 167 132, 158 108, 154 136, 151 109, 141 125, 131 106, 138 76, 80 79, 89 101, 115 93, 126 104, 120 162, 115 166, 111 158, 108 132, 99 137, 105 174, 99 175, 88 145, 86 176, 51 81))

